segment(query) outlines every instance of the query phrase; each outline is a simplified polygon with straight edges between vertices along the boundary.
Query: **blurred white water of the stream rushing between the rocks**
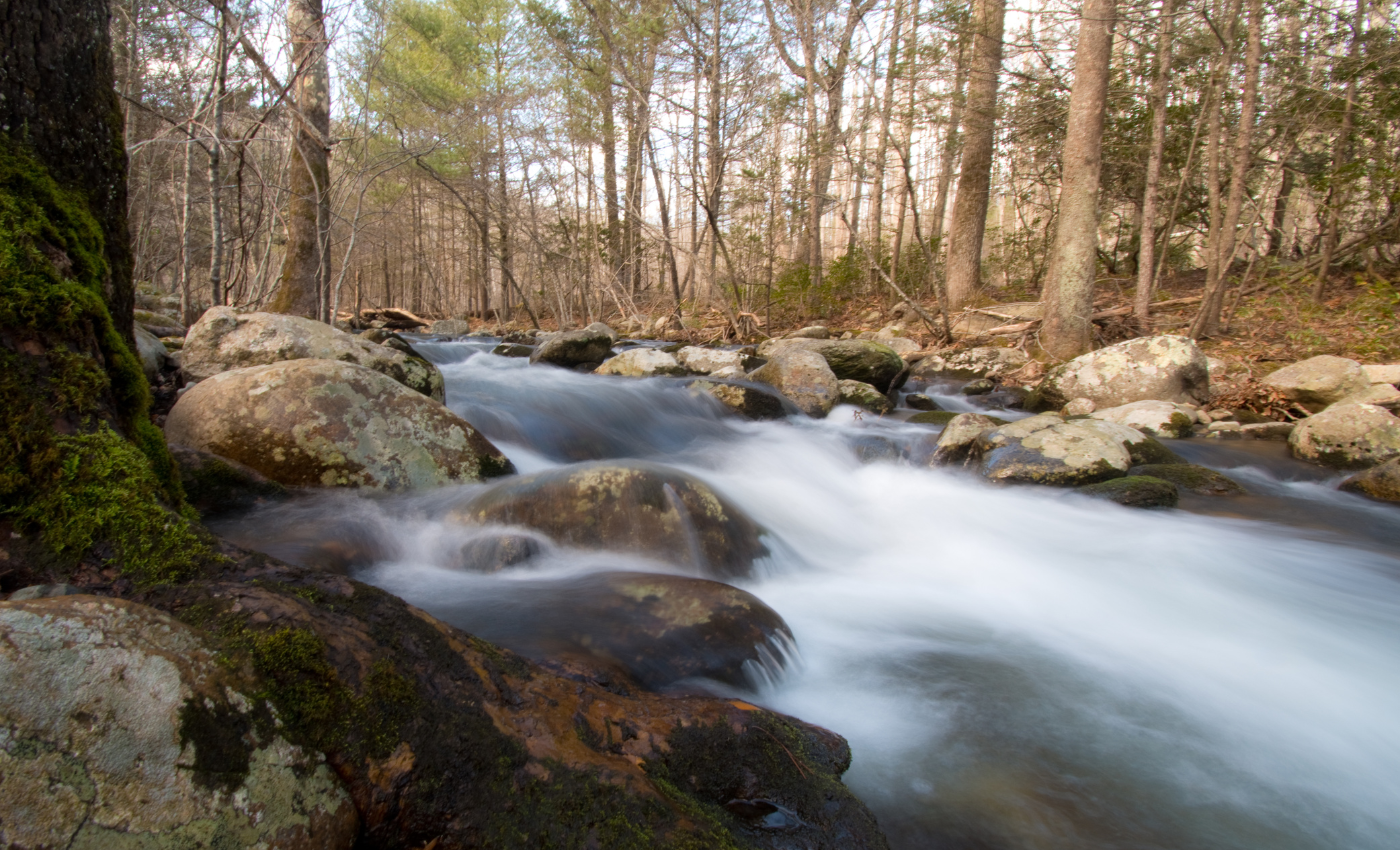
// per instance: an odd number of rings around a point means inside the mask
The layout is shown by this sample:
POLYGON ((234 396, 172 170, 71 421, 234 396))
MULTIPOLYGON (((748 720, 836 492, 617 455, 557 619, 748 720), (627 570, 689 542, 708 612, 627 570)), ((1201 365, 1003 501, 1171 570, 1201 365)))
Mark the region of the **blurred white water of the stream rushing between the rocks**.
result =
MULTIPOLYGON (((1400 842, 1400 510, 1281 444, 1176 443, 1252 496, 1134 511, 899 462, 932 431, 850 407, 746 423, 673 379, 419 347, 522 472, 662 461, 770 531, 739 584, 787 619, 798 657, 745 699, 846 735, 846 781, 895 847, 1400 842)), ((526 570, 451 570, 444 553, 475 532, 440 517, 469 492, 330 494, 238 528, 312 529, 267 532, 293 559, 363 541, 361 578, 507 644, 529 613, 512 583, 648 569, 546 542, 526 570)))

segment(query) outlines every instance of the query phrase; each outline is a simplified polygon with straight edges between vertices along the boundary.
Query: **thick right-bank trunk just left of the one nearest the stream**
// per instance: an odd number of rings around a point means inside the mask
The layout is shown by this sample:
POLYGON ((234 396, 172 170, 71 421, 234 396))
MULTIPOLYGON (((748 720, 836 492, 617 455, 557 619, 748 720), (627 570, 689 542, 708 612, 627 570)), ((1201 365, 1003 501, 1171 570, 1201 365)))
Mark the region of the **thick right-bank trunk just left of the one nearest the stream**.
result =
MULTIPOLYGON (((948 311, 960 309, 972 301, 981 286, 981 239, 987 231, 991 157, 997 141, 997 77, 1001 74, 1001 35, 1005 17, 1005 0, 977 0, 973 13, 967 105, 963 112, 966 133, 962 172, 958 178, 958 196, 953 199, 953 221, 948 241, 945 272, 948 304, 944 305, 948 311)), ((1075 74, 1077 85, 1078 77, 1075 74)))

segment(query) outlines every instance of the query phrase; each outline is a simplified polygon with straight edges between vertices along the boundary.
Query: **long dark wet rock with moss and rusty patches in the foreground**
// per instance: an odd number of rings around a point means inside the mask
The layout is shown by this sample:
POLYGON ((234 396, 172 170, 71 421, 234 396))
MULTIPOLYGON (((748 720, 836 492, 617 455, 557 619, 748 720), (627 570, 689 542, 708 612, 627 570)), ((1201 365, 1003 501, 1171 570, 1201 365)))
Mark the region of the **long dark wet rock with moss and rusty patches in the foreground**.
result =
MULTIPOLYGON (((237 780, 242 770, 228 769, 244 753, 252 783, 262 770, 259 746, 301 767, 290 746, 272 749, 276 735, 323 755, 358 815, 357 847, 888 849, 875 818, 840 781, 848 746, 826 730, 735 699, 648 693, 616 669, 580 660, 536 664, 343 576, 231 548, 224 556, 189 581, 141 591, 147 605, 185 626, 162 619, 158 633, 133 639, 164 640, 164 629, 185 634, 193 626, 217 653, 211 667, 248 682, 241 690, 246 703, 227 690, 228 699, 213 704, 175 697, 193 735, 179 762, 193 769, 172 773, 176 787, 197 784, 202 772, 213 781, 237 780), (207 756, 199 755, 202 745, 211 745, 207 756)), ((676 616, 683 615, 682 606, 676 616)), ((88 651, 83 644, 74 650, 88 651)), ((56 654, 73 657, 73 650, 56 654)), ((10 693, 14 681, 6 676, 0 700, 28 697, 10 693)), ((133 696, 150 710, 171 704, 165 690, 140 683, 133 682, 133 696)), ((102 741, 81 737, 106 723, 101 710, 70 716, 62 706, 49 709, 38 710, 48 723, 73 728, 76 742, 102 741)), ((0 759, 34 759, 25 766, 53 765, 69 781, 81 780, 63 760, 64 742, 52 742, 59 748, 53 753, 0 745, 0 759)), ((111 749, 127 758, 139 752, 127 742, 115 738, 111 749)), ((85 746, 73 755, 91 759, 92 752, 85 746)), ((319 765, 307 763, 300 786, 287 787, 315 788, 309 783, 325 769, 319 765)), ((48 777, 27 781, 22 790, 32 797, 52 787, 48 777)), ((328 795, 308 794, 301 805, 328 795)), ((245 800, 223 797, 231 809, 245 800)), ((244 822, 253 819, 242 812, 244 822)), ((284 822, 273 809, 252 812, 260 815, 258 823, 284 822)), ((139 814, 171 816, 160 807, 139 814)), ((302 823, 308 821, 316 823, 302 823)), ((256 846, 242 835, 169 846, 256 846)), ((136 846, 144 836, 119 837, 122 843, 90 846, 136 846)))

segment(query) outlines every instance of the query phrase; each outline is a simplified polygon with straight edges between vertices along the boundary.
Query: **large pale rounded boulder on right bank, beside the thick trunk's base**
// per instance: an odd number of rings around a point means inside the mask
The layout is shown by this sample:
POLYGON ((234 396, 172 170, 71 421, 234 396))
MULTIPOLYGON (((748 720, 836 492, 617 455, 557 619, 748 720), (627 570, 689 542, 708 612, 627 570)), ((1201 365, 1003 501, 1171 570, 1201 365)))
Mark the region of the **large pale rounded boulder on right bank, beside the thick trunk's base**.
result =
POLYGON ((1030 410, 1057 410, 1072 399, 1098 407, 1162 400, 1210 400, 1205 354, 1184 336, 1142 336, 1089 351, 1050 370, 1032 398, 1030 410))

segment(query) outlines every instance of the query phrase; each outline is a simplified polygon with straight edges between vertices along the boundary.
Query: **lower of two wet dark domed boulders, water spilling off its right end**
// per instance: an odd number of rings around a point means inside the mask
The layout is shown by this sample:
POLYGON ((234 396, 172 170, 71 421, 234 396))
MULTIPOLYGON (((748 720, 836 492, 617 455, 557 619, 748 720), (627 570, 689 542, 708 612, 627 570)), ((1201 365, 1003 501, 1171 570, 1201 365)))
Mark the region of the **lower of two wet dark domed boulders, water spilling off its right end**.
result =
POLYGON ((582 657, 620 668, 651 689, 685 679, 752 686, 750 671, 777 672, 792 641, 776 611, 704 578, 606 571, 514 581, 503 592, 508 598, 487 591, 461 625, 536 660, 582 657))

